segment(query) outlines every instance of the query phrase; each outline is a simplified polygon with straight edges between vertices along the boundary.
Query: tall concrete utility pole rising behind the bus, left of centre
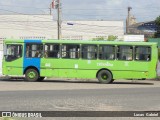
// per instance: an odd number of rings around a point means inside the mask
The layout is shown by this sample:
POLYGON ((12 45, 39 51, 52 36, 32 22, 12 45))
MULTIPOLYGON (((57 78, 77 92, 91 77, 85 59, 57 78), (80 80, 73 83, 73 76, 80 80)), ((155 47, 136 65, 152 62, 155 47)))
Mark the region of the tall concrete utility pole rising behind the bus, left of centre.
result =
POLYGON ((60 0, 53 0, 52 8, 57 9, 57 36, 58 36, 58 40, 60 40, 62 38, 62 32, 61 32, 62 20, 61 20, 61 3, 60 3, 60 0))

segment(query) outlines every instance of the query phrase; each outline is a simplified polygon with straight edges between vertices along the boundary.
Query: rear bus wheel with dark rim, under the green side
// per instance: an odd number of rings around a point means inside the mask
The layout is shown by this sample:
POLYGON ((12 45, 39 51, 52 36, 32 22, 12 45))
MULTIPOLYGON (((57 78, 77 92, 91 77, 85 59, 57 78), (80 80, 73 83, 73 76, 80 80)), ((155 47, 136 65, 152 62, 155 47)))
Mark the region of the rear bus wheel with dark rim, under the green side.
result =
POLYGON ((108 70, 101 70, 99 73, 98 73, 98 80, 100 83, 103 83, 103 84, 109 84, 109 83, 112 83, 113 79, 112 79, 112 74, 111 72, 109 72, 108 70))

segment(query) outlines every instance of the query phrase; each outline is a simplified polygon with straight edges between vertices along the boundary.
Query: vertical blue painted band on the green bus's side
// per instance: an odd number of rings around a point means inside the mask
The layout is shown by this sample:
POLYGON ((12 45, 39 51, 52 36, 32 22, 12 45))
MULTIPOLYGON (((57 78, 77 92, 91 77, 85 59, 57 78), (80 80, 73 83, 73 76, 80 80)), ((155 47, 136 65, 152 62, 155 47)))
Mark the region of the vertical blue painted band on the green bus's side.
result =
POLYGON ((40 73, 41 58, 26 58, 26 44, 27 43, 42 43, 41 40, 24 40, 24 59, 23 59, 23 72, 29 66, 36 67, 40 73))

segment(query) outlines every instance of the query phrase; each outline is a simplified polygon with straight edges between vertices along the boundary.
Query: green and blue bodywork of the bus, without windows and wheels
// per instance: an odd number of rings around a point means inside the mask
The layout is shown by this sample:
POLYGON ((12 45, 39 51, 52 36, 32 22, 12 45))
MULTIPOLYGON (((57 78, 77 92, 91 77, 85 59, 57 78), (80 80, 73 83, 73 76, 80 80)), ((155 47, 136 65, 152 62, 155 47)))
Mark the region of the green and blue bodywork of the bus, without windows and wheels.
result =
MULTIPOLYGON (((18 41, 16 41, 18 43, 18 41)), ((38 69, 42 77, 61 77, 61 78, 96 78, 97 72, 101 69, 111 71, 113 79, 140 79, 156 78, 156 64, 158 51, 156 44, 150 43, 126 43, 126 42, 85 42, 77 41, 76 44, 111 44, 111 45, 141 45, 151 46, 151 61, 125 61, 125 60, 86 60, 86 59, 65 59, 65 58, 26 58, 27 43, 67 43, 73 41, 54 41, 54 40, 24 40, 18 44, 23 45, 23 56, 11 62, 3 59, 4 75, 23 75, 27 67, 34 66, 38 69)), ((5 44, 15 44, 12 40, 5 44)))

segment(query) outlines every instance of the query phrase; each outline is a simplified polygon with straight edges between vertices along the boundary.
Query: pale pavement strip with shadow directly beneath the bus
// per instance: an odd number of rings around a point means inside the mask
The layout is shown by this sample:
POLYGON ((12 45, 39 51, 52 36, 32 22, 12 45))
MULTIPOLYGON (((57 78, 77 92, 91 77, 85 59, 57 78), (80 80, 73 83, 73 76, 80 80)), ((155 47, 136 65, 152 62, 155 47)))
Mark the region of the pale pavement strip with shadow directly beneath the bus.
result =
POLYGON ((160 81, 116 80, 113 84, 99 84, 97 80, 44 80, 43 82, 25 82, 23 80, 0 80, 0 91, 23 90, 78 90, 110 88, 153 88, 160 87, 160 81))

